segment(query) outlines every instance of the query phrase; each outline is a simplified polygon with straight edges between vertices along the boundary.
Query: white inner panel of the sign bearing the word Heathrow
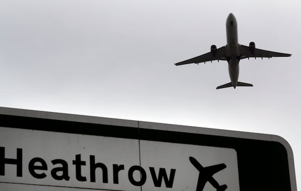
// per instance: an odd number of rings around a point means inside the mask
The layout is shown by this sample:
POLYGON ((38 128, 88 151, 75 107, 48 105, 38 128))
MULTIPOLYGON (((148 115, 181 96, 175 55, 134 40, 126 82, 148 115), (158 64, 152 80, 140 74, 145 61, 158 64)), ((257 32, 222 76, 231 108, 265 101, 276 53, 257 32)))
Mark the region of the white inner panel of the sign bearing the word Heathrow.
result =
MULTIPOLYGON (((229 190, 239 190, 234 149, 5 127, 0 131, 0 165, 5 166, 1 182, 23 187, 196 190, 203 181, 202 190, 216 190, 210 183, 215 179, 229 190), (197 169, 190 157, 204 168, 197 169), (199 180, 207 166, 217 164, 225 168, 212 169, 212 177, 199 180)), ((6 190, 15 190, 10 187, 6 190)))

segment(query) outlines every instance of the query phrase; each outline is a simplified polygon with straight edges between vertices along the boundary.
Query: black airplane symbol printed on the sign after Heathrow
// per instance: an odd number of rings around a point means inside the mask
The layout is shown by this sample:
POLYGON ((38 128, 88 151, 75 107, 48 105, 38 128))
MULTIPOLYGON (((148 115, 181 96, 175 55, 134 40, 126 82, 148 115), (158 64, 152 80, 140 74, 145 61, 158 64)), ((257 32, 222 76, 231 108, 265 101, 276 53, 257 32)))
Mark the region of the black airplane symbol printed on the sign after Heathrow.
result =
POLYGON ((225 189, 227 189, 228 186, 226 184, 219 185, 219 183, 212 177, 213 174, 226 168, 226 165, 224 163, 203 167, 194 157, 189 157, 189 160, 192 165, 194 165, 194 167, 196 167, 196 169, 198 169, 200 172, 196 191, 202 191, 206 182, 208 181, 213 187, 216 188, 217 191, 224 191, 225 189))

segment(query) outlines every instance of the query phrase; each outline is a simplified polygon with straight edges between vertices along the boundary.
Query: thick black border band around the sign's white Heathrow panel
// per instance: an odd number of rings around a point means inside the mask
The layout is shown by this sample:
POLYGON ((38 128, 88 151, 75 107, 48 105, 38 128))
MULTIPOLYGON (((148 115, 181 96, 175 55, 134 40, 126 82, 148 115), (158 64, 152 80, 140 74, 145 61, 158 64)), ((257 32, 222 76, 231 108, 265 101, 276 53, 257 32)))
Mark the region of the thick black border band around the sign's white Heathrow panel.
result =
POLYGON ((232 148, 237 152, 241 191, 291 190, 287 151, 275 141, 12 115, 0 115, 0 126, 232 148))

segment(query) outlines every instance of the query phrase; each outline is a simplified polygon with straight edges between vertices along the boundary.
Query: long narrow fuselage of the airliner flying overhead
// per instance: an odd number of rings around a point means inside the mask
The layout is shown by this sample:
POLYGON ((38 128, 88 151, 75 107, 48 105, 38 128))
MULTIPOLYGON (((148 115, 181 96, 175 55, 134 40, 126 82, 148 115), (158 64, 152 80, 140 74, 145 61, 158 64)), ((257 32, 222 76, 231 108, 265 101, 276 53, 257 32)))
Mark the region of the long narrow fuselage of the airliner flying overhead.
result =
POLYGON ((232 13, 229 14, 226 20, 227 34, 227 61, 231 83, 235 88, 239 75, 239 44, 237 35, 237 22, 232 13))

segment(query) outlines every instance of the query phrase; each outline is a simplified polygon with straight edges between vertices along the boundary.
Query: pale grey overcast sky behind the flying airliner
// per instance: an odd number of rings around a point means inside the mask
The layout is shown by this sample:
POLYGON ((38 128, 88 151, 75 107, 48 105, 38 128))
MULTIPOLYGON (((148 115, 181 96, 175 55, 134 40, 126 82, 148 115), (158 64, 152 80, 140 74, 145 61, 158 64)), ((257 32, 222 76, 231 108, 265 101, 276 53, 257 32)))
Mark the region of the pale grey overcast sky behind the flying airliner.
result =
POLYGON ((300 1, 0 2, 0 106, 275 134, 294 152, 301 187, 300 1), (175 66, 226 44, 291 53, 175 66))

